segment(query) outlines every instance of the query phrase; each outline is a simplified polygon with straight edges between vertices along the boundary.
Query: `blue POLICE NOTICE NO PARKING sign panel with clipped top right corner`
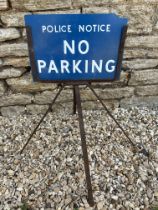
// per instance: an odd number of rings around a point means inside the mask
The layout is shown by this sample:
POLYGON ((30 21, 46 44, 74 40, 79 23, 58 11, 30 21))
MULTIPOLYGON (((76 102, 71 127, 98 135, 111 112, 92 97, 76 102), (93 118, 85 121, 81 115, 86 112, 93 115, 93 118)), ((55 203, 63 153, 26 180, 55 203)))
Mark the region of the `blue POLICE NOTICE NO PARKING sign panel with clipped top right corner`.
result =
POLYGON ((118 79, 120 42, 127 22, 115 14, 26 15, 34 80, 118 79))

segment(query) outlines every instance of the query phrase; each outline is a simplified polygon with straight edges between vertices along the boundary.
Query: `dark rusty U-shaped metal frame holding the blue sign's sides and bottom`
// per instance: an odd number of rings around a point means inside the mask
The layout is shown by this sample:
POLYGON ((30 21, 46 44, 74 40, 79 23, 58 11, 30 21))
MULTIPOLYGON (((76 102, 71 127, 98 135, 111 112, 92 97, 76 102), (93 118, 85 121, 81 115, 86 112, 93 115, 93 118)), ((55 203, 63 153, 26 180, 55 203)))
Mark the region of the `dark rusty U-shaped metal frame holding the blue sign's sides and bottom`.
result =
POLYGON ((30 64, 31 64, 31 72, 33 76, 34 82, 41 82, 41 83, 84 83, 84 82, 114 82, 119 80, 118 75, 121 74, 121 64, 122 64, 122 58, 123 58, 123 52, 124 52, 124 45, 125 45, 125 39, 127 35, 127 29, 128 24, 123 26, 121 29, 121 37, 119 42, 119 48, 118 48, 118 57, 117 57, 117 64, 116 64, 116 70, 114 73, 113 79, 85 79, 85 80, 42 80, 39 78, 39 73, 35 61, 35 52, 33 48, 33 38, 32 38, 32 30, 30 26, 26 26, 26 34, 27 34, 27 43, 28 43, 28 50, 29 50, 29 58, 30 58, 30 64))

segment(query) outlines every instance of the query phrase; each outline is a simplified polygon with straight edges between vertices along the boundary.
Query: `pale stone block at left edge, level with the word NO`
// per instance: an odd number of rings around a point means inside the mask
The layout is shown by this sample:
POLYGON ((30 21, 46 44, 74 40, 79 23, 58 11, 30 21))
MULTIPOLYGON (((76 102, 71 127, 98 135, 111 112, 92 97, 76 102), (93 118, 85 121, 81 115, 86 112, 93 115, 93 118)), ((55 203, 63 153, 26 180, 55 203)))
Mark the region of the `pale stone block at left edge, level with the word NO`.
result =
POLYGON ((0 57, 28 56, 27 43, 10 43, 0 45, 0 57))

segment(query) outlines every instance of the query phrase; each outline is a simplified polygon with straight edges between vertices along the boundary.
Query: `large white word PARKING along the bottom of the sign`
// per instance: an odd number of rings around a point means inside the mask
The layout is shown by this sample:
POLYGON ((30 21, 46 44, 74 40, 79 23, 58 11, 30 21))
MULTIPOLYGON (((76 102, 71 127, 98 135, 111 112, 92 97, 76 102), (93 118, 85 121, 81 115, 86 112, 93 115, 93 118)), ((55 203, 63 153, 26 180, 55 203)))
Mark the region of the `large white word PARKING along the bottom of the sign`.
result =
MULTIPOLYGON (((81 51, 82 53, 82 51, 81 51)), ((83 54, 83 53, 82 53, 83 54)), ((45 60, 37 60, 39 74, 41 73, 56 73, 56 74, 98 74, 112 73, 116 69, 115 60, 60 60, 56 63, 55 60, 50 60, 48 63, 45 60)))

